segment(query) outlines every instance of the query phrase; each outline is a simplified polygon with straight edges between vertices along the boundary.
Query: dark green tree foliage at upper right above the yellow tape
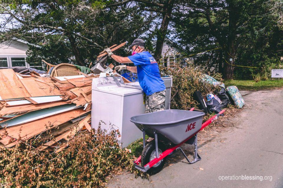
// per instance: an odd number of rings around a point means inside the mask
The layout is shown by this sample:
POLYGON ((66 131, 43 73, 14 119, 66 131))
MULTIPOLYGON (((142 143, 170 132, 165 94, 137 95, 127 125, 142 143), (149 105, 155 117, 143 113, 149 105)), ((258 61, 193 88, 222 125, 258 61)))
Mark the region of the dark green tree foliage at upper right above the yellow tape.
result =
MULTIPOLYGON (((189 11, 176 16, 175 37, 191 54, 221 47, 194 57, 207 70, 225 73, 230 58, 235 65, 261 67, 266 58, 283 53, 278 51, 283 41, 282 16, 274 12, 282 9, 280 4, 278 0, 191 1, 186 5, 189 11)), ((249 68, 233 68, 236 78, 251 78, 249 68)))

